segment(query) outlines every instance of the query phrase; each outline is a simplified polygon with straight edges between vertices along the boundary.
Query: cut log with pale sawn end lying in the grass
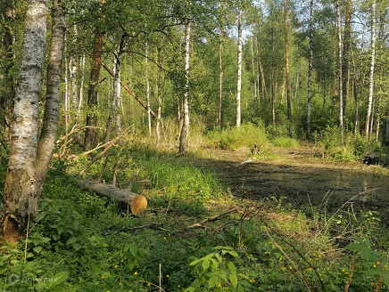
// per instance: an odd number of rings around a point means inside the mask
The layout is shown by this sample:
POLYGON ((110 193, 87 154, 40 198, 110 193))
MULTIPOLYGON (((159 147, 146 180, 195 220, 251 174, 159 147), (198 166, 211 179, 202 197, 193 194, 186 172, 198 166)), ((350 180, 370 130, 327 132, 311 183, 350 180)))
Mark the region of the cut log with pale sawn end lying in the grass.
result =
POLYGON ((127 204, 131 213, 134 215, 142 213, 147 207, 147 199, 132 191, 120 190, 103 183, 94 183, 90 181, 81 181, 81 187, 87 191, 95 191, 95 193, 100 196, 117 199, 118 201, 127 204))

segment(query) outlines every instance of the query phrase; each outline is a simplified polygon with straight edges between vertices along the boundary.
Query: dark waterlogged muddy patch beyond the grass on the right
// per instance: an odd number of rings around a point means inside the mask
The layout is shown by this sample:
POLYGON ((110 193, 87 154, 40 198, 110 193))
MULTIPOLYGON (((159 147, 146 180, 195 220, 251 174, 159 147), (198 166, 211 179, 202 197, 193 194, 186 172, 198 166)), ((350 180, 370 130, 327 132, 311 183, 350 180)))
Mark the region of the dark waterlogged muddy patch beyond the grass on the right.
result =
POLYGON ((389 207, 389 172, 382 166, 314 158, 312 146, 271 148, 269 153, 252 158, 248 148, 209 150, 209 159, 193 164, 218 173, 238 197, 285 197, 296 206, 328 210, 343 204, 382 212, 389 207))

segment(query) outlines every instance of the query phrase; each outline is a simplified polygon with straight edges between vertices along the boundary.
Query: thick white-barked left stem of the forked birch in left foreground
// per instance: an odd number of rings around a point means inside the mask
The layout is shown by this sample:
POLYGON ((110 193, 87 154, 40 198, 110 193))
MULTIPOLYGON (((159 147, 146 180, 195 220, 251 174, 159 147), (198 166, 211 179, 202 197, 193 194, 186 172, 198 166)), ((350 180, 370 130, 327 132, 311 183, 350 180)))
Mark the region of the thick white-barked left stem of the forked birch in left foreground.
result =
POLYGON ((24 24, 21 69, 12 121, 12 146, 5 177, 2 229, 15 241, 37 213, 37 115, 45 61, 48 0, 29 0, 24 24))

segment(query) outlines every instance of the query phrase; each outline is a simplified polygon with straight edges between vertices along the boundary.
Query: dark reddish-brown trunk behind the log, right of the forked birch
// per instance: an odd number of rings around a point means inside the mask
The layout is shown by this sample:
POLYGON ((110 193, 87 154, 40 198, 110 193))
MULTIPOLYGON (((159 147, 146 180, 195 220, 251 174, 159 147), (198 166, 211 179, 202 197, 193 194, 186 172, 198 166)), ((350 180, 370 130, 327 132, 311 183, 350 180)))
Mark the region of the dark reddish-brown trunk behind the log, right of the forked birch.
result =
MULTIPOLYGON (((103 6, 104 1, 98 0, 99 4, 103 6)), ((103 20, 102 20, 103 21, 103 20)), ((97 139, 97 132, 95 126, 97 126, 97 105, 98 105, 98 92, 96 86, 99 83, 100 69, 103 57, 103 38, 104 32, 102 28, 95 28, 95 40, 92 53, 92 63, 89 77, 89 87, 87 90, 87 130, 84 140, 84 151, 91 149, 95 146, 97 139)))

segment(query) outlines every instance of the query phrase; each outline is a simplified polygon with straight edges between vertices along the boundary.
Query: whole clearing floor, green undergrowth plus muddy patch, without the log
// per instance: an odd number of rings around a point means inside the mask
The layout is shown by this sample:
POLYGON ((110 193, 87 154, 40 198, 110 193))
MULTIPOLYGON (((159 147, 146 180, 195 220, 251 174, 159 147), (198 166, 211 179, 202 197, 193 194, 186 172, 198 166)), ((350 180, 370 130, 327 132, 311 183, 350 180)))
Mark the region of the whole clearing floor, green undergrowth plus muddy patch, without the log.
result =
MULTIPOLYGON (((267 144, 255 155, 248 146, 212 145, 184 156, 140 145, 118 153, 127 167, 117 187, 132 182, 148 200, 138 215, 82 191, 85 158, 54 158, 26 245, 2 247, 4 290, 384 288, 389 170, 323 159, 313 144, 267 144)), ((114 166, 112 157, 104 181, 114 166)))

